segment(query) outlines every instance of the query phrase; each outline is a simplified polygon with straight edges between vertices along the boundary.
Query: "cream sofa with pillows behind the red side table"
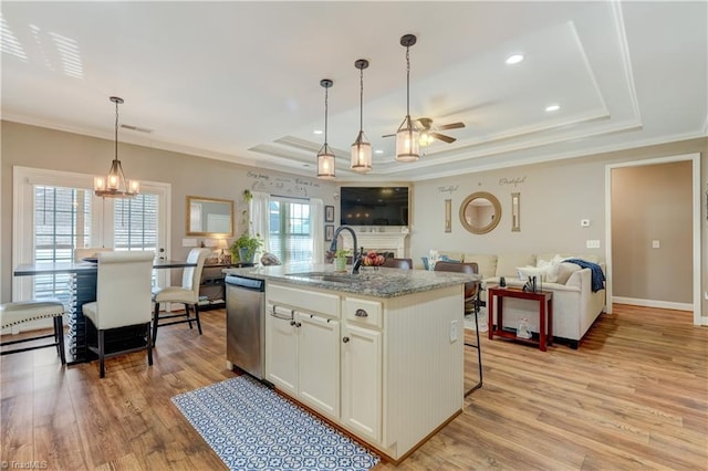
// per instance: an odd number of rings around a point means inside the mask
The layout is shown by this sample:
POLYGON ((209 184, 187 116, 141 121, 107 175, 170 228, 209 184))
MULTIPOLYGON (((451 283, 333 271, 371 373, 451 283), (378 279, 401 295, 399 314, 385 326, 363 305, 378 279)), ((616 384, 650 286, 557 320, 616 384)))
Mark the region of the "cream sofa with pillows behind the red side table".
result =
MULTIPOLYGON (((562 262, 565 259, 581 259, 604 266, 592 254, 568 253, 500 253, 497 255, 481 253, 439 252, 450 260, 476 262, 483 279, 483 287, 499 284, 504 278, 508 286, 521 287, 527 281, 523 275, 537 274, 537 283, 543 291, 553 292, 553 336, 568 341, 572 348, 577 348, 580 341, 605 308, 605 290, 592 291, 592 273, 574 263, 562 262), (539 265, 545 265, 543 270, 539 265), (545 274, 542 275, 541 272, 545 274), (548 280, 539 280, 548 276, 548 280)), ((488 304, 488 291, 482 292, 482 301, 488 304)), ((532 332, 539 332, 538 303, 528 300, 504 299, 504 326, 516 328, 521 318, 527 318, 532 332)), ((496 312, 497 310, 494 310, 496 312)), ((494 323, 497 318, 494 316, 494 323)))

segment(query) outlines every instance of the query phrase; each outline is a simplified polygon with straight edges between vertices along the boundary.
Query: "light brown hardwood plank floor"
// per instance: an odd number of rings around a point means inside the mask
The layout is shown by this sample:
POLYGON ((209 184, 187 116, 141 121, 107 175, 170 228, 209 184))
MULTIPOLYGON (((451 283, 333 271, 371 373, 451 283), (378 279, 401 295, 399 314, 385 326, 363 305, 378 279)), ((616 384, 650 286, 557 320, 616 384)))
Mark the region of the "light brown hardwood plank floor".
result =
MULTIPOLYGON (((225 469, 169 400, 232 376, 225 312, 201 317, 204 335, 160 328, 153 367, 144 353, 108 359, 103 380, 95 362, 62 368, 50 348, 0 357, 0 460, 225 469)), ((468 348, 468 384, 476 358, 468 348)), ((482 364, 464 412, 398 469, 708 469, 708 327, 690 313, 615 305, 577 350, 482 338, 482 364)))

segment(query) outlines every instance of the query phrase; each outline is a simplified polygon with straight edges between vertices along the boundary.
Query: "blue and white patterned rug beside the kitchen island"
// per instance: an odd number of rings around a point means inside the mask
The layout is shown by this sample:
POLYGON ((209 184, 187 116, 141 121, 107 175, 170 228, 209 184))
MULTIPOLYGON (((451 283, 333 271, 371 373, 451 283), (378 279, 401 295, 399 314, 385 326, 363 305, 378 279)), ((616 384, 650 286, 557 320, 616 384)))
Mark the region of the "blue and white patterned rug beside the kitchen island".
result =
POLYGON ((379 461, 247 375, 173 402, 231 470, 368 470, 379 461))

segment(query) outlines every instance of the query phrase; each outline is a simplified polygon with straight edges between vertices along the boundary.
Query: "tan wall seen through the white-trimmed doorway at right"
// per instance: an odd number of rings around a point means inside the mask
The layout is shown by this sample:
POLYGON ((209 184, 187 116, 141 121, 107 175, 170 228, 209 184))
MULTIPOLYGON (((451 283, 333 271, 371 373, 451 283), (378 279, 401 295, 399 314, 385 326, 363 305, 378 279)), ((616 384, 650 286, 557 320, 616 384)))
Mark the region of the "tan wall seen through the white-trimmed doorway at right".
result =
POLYGON ((612 170, 615 296, 693 303, 691 174, 690 161, 612 170))

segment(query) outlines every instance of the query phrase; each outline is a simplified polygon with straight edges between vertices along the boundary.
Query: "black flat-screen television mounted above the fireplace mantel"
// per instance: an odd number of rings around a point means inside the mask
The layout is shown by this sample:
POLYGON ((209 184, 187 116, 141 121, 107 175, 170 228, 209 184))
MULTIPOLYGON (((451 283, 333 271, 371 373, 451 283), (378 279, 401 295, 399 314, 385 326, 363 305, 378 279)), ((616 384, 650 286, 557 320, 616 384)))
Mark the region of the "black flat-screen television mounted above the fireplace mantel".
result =
POLYGON ((341 223, 408 226, 408 187, 342 187, 341 223))

